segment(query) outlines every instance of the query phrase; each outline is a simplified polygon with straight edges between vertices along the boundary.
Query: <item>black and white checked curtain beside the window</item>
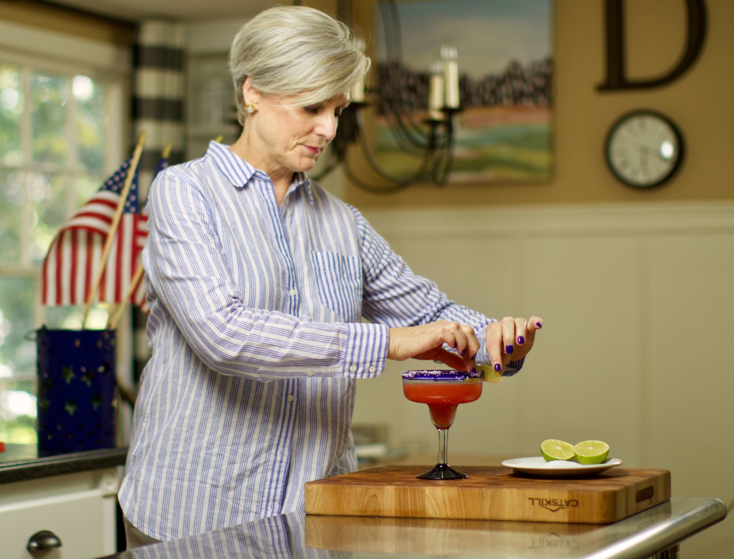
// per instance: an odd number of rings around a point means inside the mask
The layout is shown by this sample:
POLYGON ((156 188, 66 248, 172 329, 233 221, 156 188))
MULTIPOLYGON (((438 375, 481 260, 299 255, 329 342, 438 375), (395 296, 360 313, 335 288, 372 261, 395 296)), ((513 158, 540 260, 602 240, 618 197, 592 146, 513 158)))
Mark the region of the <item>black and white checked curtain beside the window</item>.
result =
MULTIPOLYGON (((134 49, 133 129, 134 140, 148 136, 139 163, 140 198, 148 195, 161 152, 172 143, 170 165, 181 163, 184 152, 184 27, 172 21, 151 20, 141 24, 134 49)), ((134 311, 134 373, 139 379, 150 358, 145 341, 147 317, 134 311)))

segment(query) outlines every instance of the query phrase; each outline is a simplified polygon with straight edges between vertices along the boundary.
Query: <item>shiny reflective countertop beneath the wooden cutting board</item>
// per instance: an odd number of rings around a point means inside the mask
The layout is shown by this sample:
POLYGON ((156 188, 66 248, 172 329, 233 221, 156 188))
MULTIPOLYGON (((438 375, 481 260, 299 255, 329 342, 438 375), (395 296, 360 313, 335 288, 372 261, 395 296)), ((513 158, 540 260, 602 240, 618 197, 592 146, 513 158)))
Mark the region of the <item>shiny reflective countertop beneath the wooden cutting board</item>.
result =
POLYGON ((643 559, 727 515, 718 499, 673 498, 614 524, 311 516, 289 513, 133 549, 117 559, 643 559))

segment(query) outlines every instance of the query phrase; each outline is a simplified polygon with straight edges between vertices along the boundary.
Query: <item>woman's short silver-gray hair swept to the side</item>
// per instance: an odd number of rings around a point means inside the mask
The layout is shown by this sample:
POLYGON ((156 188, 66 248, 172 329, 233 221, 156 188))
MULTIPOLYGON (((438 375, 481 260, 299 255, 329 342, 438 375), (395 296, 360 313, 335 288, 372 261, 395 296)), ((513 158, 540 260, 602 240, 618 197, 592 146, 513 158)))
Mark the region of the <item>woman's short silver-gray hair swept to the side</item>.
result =
POLYGON ((347 93, 366 76, 370 59, 341 21, 305 6, 274 6, 239 30, 229 67, 237 120, 244 124, 242 86, 248 77, 263 95, 308 107, 347 93))

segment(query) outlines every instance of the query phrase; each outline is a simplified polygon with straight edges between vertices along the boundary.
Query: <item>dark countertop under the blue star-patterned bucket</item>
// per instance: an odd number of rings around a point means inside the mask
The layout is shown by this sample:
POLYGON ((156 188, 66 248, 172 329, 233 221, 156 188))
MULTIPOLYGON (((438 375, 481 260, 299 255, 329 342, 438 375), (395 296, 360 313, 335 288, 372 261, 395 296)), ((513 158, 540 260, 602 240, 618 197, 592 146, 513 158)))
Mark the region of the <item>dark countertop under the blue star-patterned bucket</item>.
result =
POLYGON ((5 444, 0 452, 0 483, 123 466, 128 447, 39 455, 35 444, 5 444))

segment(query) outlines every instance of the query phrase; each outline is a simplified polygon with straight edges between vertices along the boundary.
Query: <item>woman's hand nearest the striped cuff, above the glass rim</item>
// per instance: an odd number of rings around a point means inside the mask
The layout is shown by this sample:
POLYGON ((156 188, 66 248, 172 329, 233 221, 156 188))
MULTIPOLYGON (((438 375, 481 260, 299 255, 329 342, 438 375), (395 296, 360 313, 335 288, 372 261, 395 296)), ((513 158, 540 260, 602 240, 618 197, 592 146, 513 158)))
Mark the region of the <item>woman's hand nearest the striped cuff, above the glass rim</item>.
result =
POLYGON ((479 351, 479 339, 474 328, 451 320, 439 320, 420 326, 390 328, 388 359, 427 359, 442 363, 459 371, 476 366, 474 358, 479 351), (457 353, 446 351, 443 345, 454 347, 457 353))

